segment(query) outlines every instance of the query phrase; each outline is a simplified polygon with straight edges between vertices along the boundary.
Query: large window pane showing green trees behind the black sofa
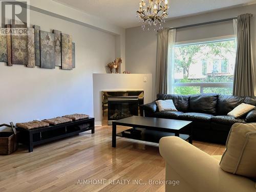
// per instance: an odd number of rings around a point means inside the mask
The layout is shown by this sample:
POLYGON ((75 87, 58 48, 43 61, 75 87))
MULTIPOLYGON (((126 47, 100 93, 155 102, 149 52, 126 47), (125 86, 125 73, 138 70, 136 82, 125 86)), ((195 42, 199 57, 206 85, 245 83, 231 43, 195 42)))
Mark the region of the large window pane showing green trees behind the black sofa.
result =
POLYGON ((175 94, 231 95, 235 59, 234 38, 176 45, 175 94))

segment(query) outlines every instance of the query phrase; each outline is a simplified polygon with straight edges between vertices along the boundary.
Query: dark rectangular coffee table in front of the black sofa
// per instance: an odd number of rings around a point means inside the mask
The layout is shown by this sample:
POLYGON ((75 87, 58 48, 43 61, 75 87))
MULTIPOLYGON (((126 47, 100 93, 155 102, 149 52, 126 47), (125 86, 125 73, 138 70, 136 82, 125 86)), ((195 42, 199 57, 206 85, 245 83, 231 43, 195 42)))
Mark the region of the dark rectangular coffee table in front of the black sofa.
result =
POLYGON ((176 136, 188 140, 192 144, 193 127, 192 121, 132 116, 113 121, 112 147, 116 147, 117 136, 155 143, 158 143, 162 137, 176 136), (117 125, 131 126, 133 129, 116 134, 117 125), (188 134, 181 134, 182 131, 186 131, 188 134))

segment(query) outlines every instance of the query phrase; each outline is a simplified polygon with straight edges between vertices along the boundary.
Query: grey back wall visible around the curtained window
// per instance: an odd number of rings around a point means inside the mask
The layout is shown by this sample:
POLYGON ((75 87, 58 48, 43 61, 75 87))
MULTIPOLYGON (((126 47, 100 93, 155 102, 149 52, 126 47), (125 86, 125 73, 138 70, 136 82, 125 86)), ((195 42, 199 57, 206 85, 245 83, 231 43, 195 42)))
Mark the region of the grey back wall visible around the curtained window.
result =
MULTIPOLYGON (((239 14, 252 13, 252 48, 254 65, 256 63, 256 5, 249 5, 239 8, 231 8, 201 15, 183 17, 168 20, 164 27, 179 27, 212 20, 236 17, 239 14)), ((171 13, 172 14, 172 13, 171 13)), ((226 35, 233 35, 232 22, 204 25, 193 28, 177 30, 176 41, 189 41, 205 38, 215 38, 226 35)), ((155 97, 155 77, 156 77, 156 53, 157 35, 155 32, 142 31, 141 27, 126 29, 126 70, 132 73, 152 73, 153 74, 153 98, 155 97)))

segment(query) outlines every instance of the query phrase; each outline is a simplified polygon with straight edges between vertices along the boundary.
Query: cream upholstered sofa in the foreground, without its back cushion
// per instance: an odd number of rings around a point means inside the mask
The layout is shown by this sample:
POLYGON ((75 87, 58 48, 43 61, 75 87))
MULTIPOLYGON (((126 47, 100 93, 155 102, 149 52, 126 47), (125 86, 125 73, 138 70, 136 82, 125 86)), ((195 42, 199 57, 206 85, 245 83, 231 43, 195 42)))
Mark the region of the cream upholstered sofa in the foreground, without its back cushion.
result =
POLYGON ((159 148, 166 161, 165 191, 256 191, 252 180, 224 172, 219 165, 221 156, 209 156, 179 137, 162 138, 159 148))

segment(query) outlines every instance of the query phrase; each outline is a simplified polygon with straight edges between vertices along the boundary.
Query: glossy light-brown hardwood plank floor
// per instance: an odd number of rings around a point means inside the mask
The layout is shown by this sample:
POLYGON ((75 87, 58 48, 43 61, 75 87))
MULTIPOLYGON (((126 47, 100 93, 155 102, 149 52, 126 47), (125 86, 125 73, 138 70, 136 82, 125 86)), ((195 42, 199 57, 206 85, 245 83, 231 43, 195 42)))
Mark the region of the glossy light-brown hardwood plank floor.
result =
MULTIPOLYGON (((111 142, 111 127, 102 126, 96 127, 94 135, 86 132, 36 146, 33 153, 20 147, 9 156, 0 156, 0 192, 164 191, 164 185, 144 185, 148 180, 165 179, 158 144, 117 138, 117 148, 112 148, 111 142), (83 183, 86 180, 99 183, 83 183), (109 183, 112 180, 122 183, 109 183), (132 180, 143 184, 135 185, 132 180)), ((222 155, 225 150, 216 144, 194 145, 210 155, 222 155)))

